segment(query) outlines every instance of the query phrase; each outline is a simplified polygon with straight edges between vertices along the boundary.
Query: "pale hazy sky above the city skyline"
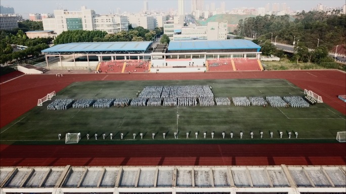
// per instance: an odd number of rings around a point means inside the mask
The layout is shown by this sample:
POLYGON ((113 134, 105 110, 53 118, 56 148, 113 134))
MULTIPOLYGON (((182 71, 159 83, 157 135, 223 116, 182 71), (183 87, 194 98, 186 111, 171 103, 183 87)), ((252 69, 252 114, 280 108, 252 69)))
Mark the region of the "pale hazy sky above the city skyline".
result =
MULTIPOLYGON (((317 4, 327 7, 341 7, 345 4, 344 0, 204 0, 205 5, 215 3, 215 8, 220 8, 220 3, 226 3, 226 10, 240 7, 265 7, 267 3, 286 3, 290 10, 310 11, 317 4)), ((81 6, 93 9, 97 14, 108 14, 116 12, 120 8, 121 12, 140 12, 143 10, 143 0, 1 0, 0 4, 5 7, 13 7, 16 14, 28 17, 29 13, 53 13, 53 10, 63 7, 70 11, 80 10, 81 6)), ((148 0, 149 10, 168 11, 178 9, 178 0, 148 0)), ((210 7, 210 6, 209 6, 210 7)), ((191 0, 185 0, 185 12, 190 12, 191 0)))

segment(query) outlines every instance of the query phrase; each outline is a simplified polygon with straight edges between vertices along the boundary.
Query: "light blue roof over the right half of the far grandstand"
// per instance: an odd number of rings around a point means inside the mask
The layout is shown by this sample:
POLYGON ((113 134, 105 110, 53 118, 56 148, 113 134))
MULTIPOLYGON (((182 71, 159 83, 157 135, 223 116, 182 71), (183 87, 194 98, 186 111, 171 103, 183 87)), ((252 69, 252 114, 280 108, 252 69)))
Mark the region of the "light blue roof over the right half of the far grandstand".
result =
POLYGON ((244 49, 256 48, 261 46, 250 40, 232 39, 232 40, 173 40, 169 42, 168 51, 174 50, 212 50, 212 49, 244 49))

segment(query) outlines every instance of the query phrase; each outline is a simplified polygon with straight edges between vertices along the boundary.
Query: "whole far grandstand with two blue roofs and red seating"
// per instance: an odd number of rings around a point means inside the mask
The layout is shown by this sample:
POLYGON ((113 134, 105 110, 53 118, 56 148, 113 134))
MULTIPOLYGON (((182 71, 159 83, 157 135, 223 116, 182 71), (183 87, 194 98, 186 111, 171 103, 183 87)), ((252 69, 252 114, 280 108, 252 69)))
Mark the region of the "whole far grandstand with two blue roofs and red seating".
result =
POLYGON ((243 39, 60 44, 42 50, 46 68, 96 73, 260 71, 261 47, 243 39))

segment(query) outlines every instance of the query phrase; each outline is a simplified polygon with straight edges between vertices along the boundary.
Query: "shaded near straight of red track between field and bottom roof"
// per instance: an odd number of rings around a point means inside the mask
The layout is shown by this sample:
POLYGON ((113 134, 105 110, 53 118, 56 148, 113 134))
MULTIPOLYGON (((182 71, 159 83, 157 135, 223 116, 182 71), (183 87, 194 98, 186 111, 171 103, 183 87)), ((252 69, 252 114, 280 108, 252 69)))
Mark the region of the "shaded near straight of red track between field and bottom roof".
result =
POLYGON ((0 145, 1 166, 345 165, 344 144, 0 145))

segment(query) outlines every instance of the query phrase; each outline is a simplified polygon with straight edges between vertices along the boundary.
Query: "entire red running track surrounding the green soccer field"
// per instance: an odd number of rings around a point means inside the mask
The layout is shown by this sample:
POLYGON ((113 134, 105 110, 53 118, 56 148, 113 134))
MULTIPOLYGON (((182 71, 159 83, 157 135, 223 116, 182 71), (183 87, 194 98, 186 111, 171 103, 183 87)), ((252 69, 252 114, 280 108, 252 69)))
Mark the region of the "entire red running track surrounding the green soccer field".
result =
MULTIPOLYGON (((346 90, 340 71, 269 71, 182 74, 25 75, 0 85, 0 127, 37 105, 37 99, 59 92, 77 81, 286 79, 312 90, 343 114, 346 103, 337 98, 346 90)), ((60 165, 345 165, 344 144, 265 145, 0 145, 1 166, 60 165)))

